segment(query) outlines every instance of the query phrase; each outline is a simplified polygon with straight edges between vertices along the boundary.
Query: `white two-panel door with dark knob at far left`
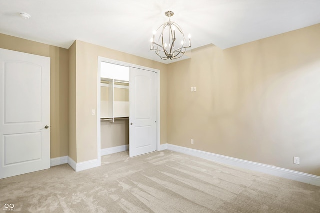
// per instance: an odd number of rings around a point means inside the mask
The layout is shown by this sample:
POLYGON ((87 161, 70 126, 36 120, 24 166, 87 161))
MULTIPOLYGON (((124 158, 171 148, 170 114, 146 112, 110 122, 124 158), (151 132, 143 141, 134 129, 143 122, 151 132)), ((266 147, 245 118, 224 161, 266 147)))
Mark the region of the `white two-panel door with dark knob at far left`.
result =
POLYGON ((0 49, 0 178, 50 168, 50 58, 0 49))

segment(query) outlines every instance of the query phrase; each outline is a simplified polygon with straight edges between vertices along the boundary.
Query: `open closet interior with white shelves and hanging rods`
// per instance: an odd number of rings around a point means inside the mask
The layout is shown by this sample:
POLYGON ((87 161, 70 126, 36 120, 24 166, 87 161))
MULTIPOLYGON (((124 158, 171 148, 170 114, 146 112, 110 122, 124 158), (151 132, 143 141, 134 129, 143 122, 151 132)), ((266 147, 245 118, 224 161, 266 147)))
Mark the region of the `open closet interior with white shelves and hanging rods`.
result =
POLYGON ((129 67, 100 64, 101 149, 129 144, 129 67))

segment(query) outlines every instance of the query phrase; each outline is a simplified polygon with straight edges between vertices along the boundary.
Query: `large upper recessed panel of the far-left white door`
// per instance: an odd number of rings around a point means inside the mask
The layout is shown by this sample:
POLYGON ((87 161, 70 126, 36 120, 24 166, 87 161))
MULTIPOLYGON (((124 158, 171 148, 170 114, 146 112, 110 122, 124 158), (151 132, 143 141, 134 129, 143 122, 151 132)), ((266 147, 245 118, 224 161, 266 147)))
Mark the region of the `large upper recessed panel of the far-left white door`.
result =
POLYGON ((41 67, 37 64, 15 61, 6 62, 5 66, 4 123, 39 122, 41 119, 41 67), (16 110, 16 106, 21 105, 23 107, 16 110))

